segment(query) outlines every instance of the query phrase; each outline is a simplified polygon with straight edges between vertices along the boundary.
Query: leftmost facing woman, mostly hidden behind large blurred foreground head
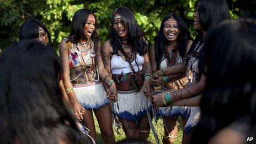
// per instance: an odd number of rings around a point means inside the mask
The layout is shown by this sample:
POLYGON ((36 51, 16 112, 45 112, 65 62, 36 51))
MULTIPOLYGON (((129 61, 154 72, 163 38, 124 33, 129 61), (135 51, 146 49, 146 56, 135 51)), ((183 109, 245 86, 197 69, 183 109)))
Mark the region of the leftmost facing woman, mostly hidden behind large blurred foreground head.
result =
MULTIPOLYGON (((42 44, 44 45, 51 47, 51 35, 48 29, 46 28, 44 23, 34 18, 28 19, 22 24, 19 32, 19 39, 20 40, 34 39, 42 42, 42 44)), ((61 92, 62 92, 64 101, 68 105, 72 106, 73 104, 70 103, 70 100, 68 99, 65 88, 63 86, 62 74, 60 78, 60 87, 61 87, 61 92)), ((82 105, 80 107, 81 107, 81 111, 82 111, 81 115, 82 115, 84 112, 84 109, 82 105)), ((78 114, 76 114, 76 116, 78 119, 82 118, 78 114)))

